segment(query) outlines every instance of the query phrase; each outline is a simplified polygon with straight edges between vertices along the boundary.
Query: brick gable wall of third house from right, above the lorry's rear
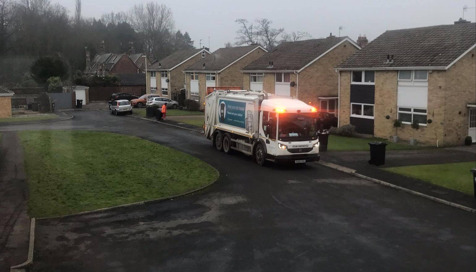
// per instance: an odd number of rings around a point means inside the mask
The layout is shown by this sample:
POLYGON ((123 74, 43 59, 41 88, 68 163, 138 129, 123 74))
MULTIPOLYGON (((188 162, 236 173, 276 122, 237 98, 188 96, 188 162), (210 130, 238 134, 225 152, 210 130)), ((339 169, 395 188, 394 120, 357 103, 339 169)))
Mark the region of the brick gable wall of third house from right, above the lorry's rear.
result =
POLYGON ((242 75, 240 70, 247 66, 252 61, 261 57, 266 53, 261 48, 255 49, 242 59, 233 63, 230 67, 224 71, 218 73, 217 86, 241 86, 243 87, 242 75))

